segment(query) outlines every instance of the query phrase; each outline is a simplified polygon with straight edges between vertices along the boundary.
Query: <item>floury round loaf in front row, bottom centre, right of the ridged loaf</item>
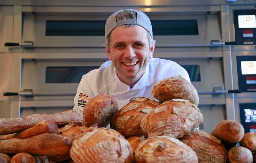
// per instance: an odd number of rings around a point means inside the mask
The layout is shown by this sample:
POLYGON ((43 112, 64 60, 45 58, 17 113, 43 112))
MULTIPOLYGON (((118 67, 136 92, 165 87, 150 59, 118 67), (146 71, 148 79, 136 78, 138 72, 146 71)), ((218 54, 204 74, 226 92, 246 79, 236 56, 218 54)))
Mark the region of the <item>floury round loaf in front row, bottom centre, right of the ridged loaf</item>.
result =
POLYGON ((196 153, 180 140, 168 136, 151 137, 135 150, 136 163, 197 163, 196 153))

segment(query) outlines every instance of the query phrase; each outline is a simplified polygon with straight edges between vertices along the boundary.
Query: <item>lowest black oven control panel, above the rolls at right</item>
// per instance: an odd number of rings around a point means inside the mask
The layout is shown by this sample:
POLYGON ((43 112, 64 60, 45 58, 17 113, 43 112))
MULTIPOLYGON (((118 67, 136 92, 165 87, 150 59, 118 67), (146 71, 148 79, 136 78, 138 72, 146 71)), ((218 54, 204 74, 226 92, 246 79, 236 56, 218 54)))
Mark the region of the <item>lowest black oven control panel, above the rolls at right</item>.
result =
POLYGON ((256 132, 256 103, 240 103, 239 108, 244 133, 256 132))

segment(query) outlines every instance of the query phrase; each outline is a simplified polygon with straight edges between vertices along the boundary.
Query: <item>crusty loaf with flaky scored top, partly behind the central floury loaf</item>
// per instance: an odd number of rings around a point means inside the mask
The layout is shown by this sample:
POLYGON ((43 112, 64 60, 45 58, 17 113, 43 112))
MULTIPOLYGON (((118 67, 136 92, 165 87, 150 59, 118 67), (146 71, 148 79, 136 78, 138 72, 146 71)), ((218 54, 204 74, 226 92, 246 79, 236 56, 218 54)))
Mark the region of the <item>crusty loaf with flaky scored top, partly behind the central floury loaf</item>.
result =
POLYGON ((110 127, 125 137, 142 136, 141 119, 160 103, 145 97, 131 98, 130 103, 115 112, 110 119, 110 127))

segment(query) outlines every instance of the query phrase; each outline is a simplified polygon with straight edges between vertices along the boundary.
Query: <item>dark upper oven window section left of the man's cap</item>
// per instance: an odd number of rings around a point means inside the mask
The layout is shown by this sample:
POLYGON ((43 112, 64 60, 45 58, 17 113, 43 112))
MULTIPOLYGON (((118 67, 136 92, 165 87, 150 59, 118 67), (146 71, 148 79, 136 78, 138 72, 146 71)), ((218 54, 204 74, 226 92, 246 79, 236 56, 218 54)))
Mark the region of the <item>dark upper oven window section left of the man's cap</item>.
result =
POLYGON ((104 36, 106 21, 46 20, 46 36, 104 36))

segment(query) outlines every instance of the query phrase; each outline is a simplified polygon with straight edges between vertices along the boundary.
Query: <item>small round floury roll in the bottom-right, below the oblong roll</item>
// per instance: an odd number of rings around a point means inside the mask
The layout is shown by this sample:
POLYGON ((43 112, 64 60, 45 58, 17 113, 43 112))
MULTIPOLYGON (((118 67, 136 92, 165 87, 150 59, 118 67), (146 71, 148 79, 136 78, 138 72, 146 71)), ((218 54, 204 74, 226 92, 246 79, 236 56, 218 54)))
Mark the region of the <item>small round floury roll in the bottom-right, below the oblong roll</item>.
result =
POLYGON ((228 151, 229 163, 252 163, 252 152, 243 146, 234 146, 228 151))

